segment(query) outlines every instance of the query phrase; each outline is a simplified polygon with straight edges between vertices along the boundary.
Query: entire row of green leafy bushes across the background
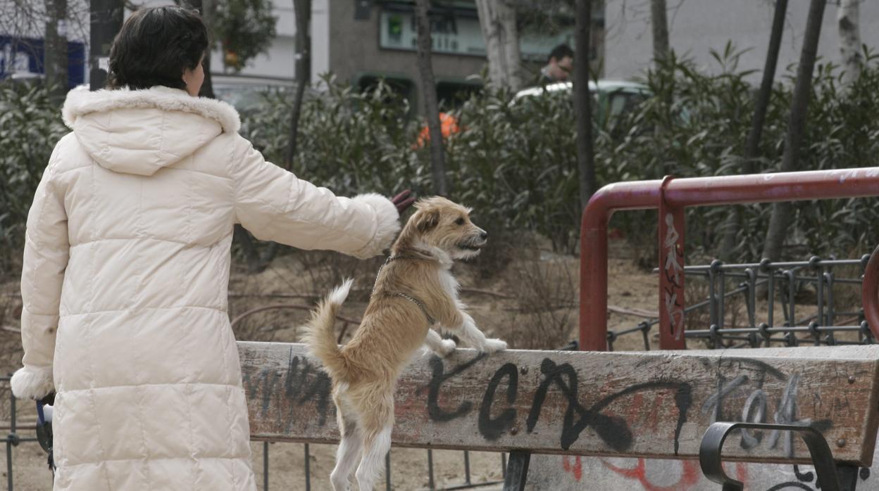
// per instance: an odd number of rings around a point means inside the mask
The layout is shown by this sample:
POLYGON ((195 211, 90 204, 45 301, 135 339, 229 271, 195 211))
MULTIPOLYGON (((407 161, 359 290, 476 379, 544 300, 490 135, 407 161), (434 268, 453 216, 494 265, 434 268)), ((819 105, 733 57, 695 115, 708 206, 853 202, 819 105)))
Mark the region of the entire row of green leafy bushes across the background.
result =
MULTIPOLYGON (((801 170, 879 166, 879 58, 865 54, 851 86, 840 70, 819 63, 801 170)), ((632 112, 596 123, 599 184, 636 179, 722 176, 742 172, 745 137, 755 90, 752 74, 737 68, 738 53, 715 53, 720 69, 707 74, 674 57, 643 77, 650 97, 632 112)), ((774 86, 756 169, 781 162, 793 87, 793 69, 774 86)), ((339 194, 411 188, 430 194, 428 148, 419 148, 424 124, 386 85, 360 92, 332 78, 302 108, 294 172, 339 194)), ((476 208, 492 231, 530 230, 554 247, 575 251, 579 203, 575 114, 563 93, 513 101, 512 93, 486 90, 449 110, 461 131, 446 143, 452 199, 476 208)), ((290 99, 265 92, 265 104, 244 115, 243 134, 273 162, 287 146, 290 99)), ((8 264, 20 254, 25 217, 54 143, 65 133, 59 107, 47 92, 0 86, 0 243, 8 264)), ((796 206, 788 242, 799 256, 845 256, 877 240, 875 199, 825 200, 796 206)), ((738 256, 757 259, 770 206, 743 207, 738 256)), ((726 208, 694 208, 687 214, 688 254, 716 254, 726 208)), ((614 224, 644 247, 653 246, 655 214, 621 213, 614 224), (644 237, 647 240, 644 240, 644 237)), ((792 252, 793 253, 793 252, 792 252)))

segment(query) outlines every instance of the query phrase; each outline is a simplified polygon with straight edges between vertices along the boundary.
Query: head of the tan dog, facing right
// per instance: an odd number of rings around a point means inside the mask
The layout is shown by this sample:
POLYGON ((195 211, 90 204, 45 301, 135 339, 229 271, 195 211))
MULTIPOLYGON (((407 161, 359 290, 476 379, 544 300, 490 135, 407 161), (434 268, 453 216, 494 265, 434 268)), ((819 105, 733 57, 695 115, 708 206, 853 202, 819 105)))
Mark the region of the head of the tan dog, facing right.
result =
POLYGON ((414 244, 440 249, 452 259, 467 259, 488 241, 488 232, 470 221, 467 207, 435 196, 418 200, 415 208, 403 230, 414 244))

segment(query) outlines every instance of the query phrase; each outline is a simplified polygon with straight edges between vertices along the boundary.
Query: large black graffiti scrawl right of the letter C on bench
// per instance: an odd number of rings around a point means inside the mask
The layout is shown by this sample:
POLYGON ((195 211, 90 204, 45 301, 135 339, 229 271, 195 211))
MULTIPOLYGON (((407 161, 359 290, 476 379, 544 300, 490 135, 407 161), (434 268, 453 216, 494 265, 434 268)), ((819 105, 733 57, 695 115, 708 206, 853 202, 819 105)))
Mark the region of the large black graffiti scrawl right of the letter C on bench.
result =
POLYGON ((563 450, 568 450, 571 444, 574 444, 580 437, 580 433, 587 427, 616 451, 627 450, 632 445, 632 431, 628 428, 628 422, 619 416, 604 415, 601 410, 607 408, 612 402, 625 397, 627 395, 636 394, 643 391, 672 389, 675 391, 674 402, 678 407, 678 422, 674 430, 674 453, 679 451, 680 432, 686 422, 686 414, 690 406, 693 404, 692 387, 686 382, 647 382, 629 386, 622 391, 608 395, 592 405, 591 408, 584 408, 578 398, 578 376, 577 371, 570 364, 556 365, 549 358, 544 358, 541 363, 541 372, 544 379, 541 385, 537 387, 534 393, 534 401, 531 405, 531 411, 528 413, 527 430, 531 433, 537 420, 541 414, 543 402, 546 400, 547 392, 550 386, 556 386, 565 396, 568 402, 568 408, 564 412, 561 445, 563 450), (567 382, 565 382, 567 378, 567 382), (578 416, 578 420, 574 421, 574 416, 578 416))

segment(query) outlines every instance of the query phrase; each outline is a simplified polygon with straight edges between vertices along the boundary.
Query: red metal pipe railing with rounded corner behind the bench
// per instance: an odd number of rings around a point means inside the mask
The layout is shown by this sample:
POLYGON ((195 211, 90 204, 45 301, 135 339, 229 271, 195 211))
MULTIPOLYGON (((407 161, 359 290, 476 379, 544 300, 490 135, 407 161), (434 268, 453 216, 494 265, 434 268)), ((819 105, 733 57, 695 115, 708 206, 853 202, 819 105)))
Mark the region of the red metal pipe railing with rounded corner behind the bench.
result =
MULTIPOLYGON (((580 228, 581 350, 607 350, 607 223, 614 212, 659 208, 660 199, 665 200, 665 206, 683 208, 879 196, 879 168, 691 177, 666 182, 664 189, 662 184, 662 180, 608 184, 592 195, 584 210, 580 228)), ((879 277, 879 259, 876 264, 877 272, 867 277, 879 277)), ((864 284, 868 285, 866 277, 864 284)), ((879 321, 876 289, 872 292, 869 298, 865 293, 864 310, 879 321)), ((870 322, 870 329, 877 333, 879 325, 870 322)))

